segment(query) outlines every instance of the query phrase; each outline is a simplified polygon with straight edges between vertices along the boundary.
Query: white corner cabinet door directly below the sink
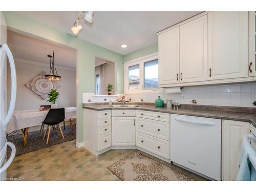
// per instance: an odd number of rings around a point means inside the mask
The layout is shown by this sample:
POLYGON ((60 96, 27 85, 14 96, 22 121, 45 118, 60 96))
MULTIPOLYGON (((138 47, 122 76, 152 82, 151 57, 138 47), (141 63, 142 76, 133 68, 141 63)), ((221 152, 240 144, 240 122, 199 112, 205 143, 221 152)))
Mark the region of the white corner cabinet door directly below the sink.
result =
POLYGON ((136 144, 136 117, 112 117, 112 145, 136 144))

